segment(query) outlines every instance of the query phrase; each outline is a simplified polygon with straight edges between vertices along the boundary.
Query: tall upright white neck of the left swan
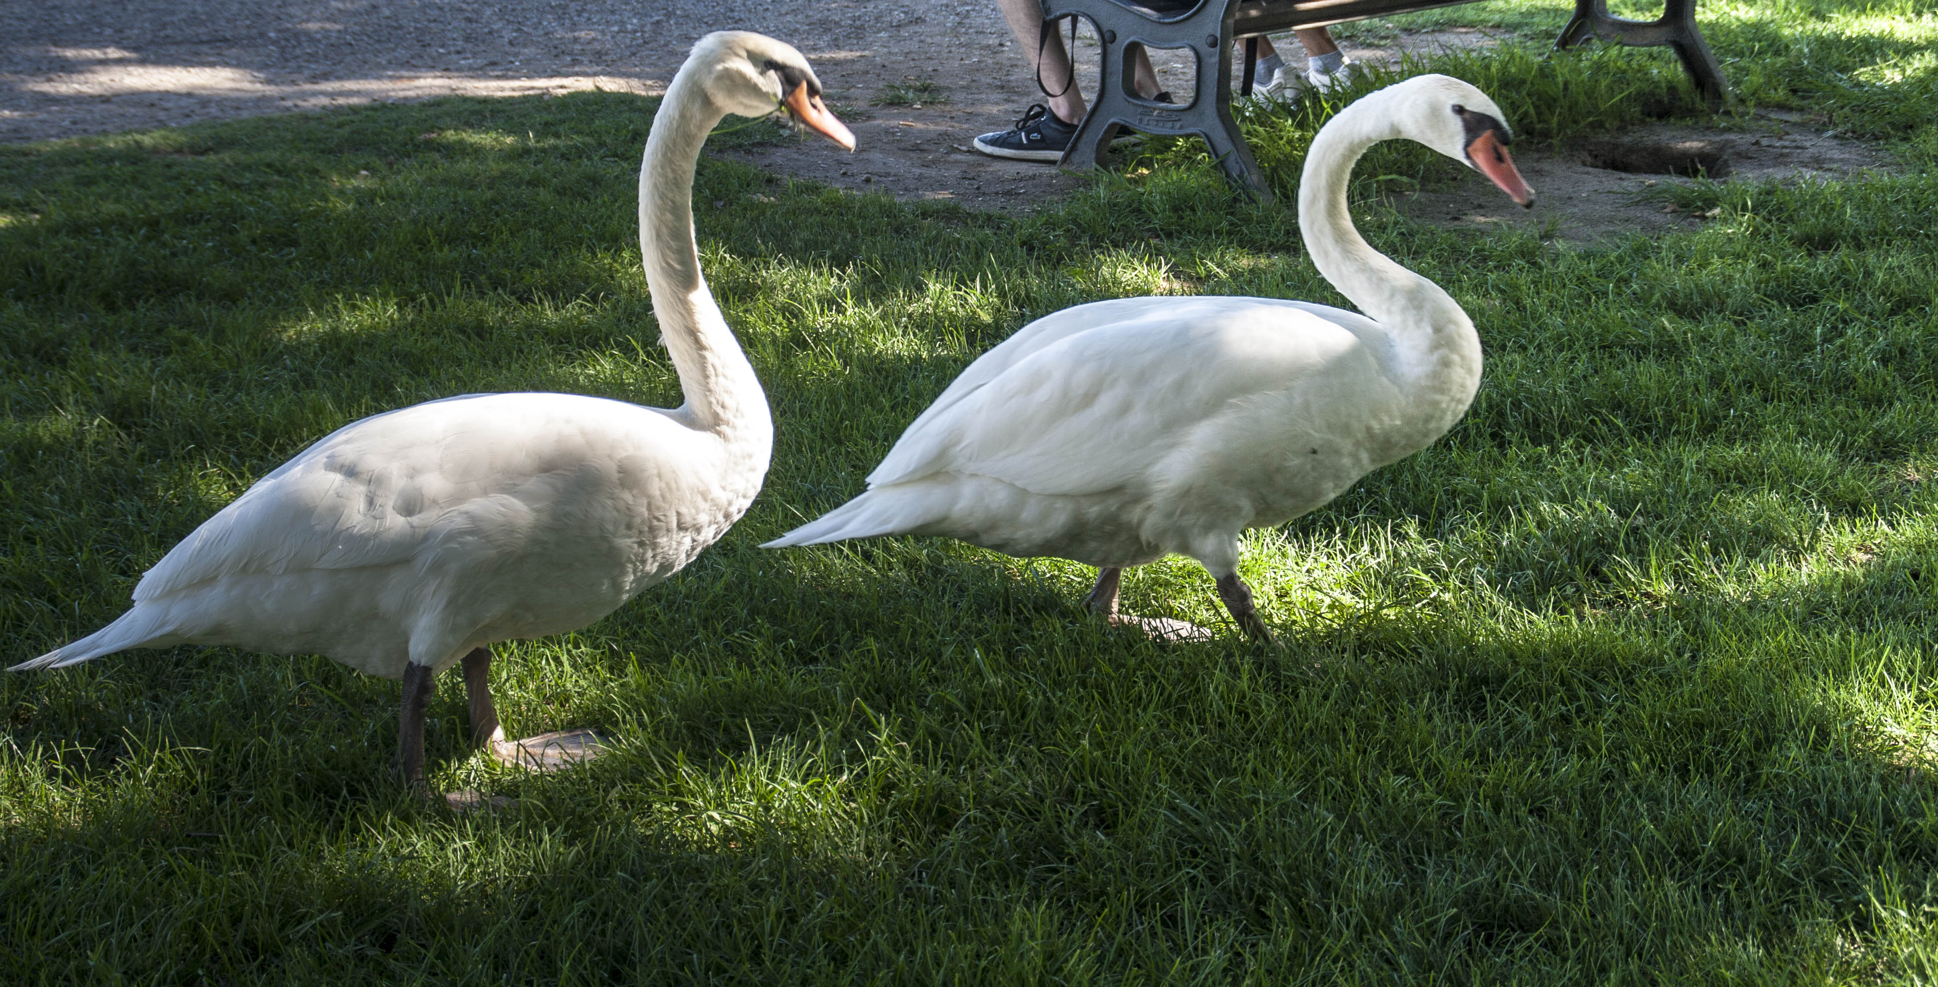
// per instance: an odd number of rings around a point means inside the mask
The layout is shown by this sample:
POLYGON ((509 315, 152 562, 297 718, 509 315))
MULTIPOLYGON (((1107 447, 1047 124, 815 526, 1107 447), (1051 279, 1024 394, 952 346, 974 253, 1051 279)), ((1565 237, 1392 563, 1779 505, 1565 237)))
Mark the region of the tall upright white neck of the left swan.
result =
POLYGON ((694 429, 771 438, 767 396, 707 291, 694 242, 694 169, 707 132, 727 116, 702 85, 707 68, 696 62, 680 68, 645 138, 640 254, 653 314, 686 394, 676 415, 694 429))

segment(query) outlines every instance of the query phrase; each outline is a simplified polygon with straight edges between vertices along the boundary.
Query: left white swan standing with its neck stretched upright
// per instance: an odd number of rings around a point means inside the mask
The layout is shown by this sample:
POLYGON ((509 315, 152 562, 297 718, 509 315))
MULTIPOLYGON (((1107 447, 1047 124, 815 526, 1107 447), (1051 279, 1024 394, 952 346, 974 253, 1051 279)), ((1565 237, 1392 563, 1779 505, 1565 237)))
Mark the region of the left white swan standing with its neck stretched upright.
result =
POLYGON ((729 112, 785 107, 853 149, 820 91, 789 45, 723 31, 694 45, 653 118, 640 250, 686 403, 471 394, 345 425, 182 539, 118 621, 14 671, 172 644, 324 653, 403 679, 399 758, 422 787, 424 706, 461 661, 473 741, 519 756, 490 702, 488 646, 612 613, 760 493, 773 423, 700 275, 694 167, 729 112))

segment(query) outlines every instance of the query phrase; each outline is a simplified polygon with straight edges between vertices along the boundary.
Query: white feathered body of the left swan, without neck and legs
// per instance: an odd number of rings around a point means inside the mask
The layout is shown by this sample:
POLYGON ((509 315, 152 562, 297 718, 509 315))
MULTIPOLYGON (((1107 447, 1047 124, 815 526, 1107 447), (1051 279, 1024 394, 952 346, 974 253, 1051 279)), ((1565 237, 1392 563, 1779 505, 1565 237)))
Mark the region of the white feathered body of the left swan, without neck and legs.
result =
POLYGON ((324 653, 386 679, 585 626, 678 572, 760 493, 733 438, 572 394, 473 394, 351 423, 182 539, 99 632, 124 648, 324 653))

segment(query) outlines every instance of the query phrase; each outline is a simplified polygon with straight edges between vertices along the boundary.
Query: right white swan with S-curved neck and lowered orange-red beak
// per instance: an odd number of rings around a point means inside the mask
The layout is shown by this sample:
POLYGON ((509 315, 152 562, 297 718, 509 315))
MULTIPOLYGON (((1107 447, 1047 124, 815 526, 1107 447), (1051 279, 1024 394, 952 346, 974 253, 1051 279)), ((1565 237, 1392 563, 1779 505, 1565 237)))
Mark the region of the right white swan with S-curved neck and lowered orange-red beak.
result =
POLYGON ((1481 339, 1432 281, 1366 246, 1347 178, 1366 147, 1417 140, 1521 206, 1500 109, 1419 76, 1359 99, 1312 142, 1298 227, 1320 273, 1362 314, 1279 299, 1120 299, 1017 330, 942 392, 868 491, 766 547, 948 535, 1103 572, 1087 603, 1159 638, 1180 621, 1120 617, 1124 566, 1167 553, 1217 578, 1238 624, 1269 640, 1238 578, 1238 535, 1289 522, 1426 448, 1473 401, 1481 339))

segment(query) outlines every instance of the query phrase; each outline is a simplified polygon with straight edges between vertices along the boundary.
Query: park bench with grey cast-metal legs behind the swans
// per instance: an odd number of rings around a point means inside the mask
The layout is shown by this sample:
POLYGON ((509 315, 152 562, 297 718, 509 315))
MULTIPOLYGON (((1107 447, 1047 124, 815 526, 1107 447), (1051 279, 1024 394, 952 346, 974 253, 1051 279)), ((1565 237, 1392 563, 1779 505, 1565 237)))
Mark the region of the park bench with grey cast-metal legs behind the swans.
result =
MULTIPOLYGON (((1250 95, 1260 35, 1471 2, 1475 0, 1043 0, 1045 23, 1062 17, 1091 21, 1103 64, 1097 99, 1070 140, 1062 165, 1101 165, 1110 140, 1126 126, 1141 134, 1196 134, 1211 145, 1211 157, 1235 184, 1271 200, 1266 176, 1231 118, 1233 41, 1252 39, 1240 83, 1242 95, 1250 95), (1194 48, 1198 74, 1192 101, 1172 105, 1138 97, 1132 83, 1134 45, 1194 48)), ((1655 21, 1614 17, 1609 14, 1609 0, 1576 0, 1574 17, 1554 47, 1568 48, 1589 37, 1674 48, 1709 109, 1723 107, 1723 70, 1696 31, 1696 0, 1665 0, 1663 16, 1655 21)))

